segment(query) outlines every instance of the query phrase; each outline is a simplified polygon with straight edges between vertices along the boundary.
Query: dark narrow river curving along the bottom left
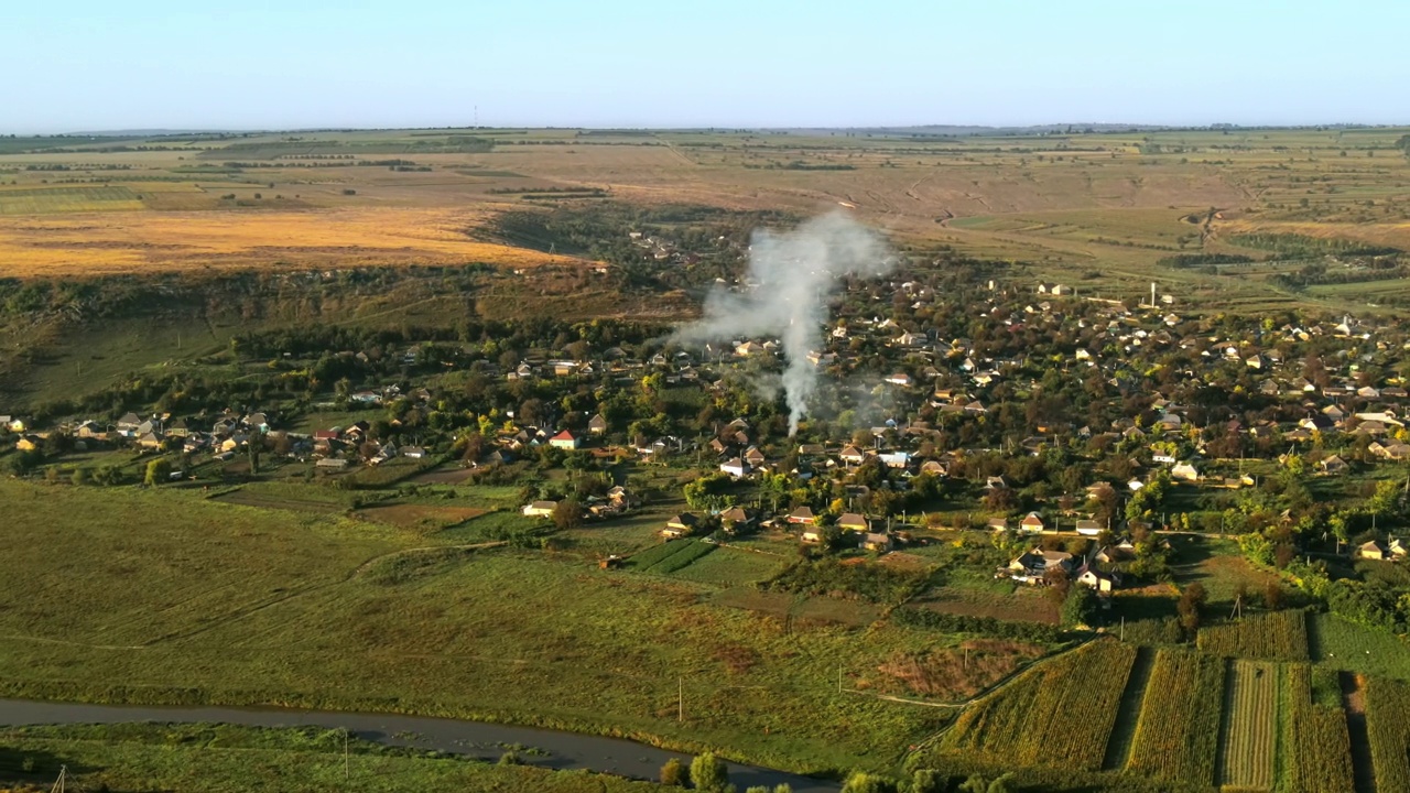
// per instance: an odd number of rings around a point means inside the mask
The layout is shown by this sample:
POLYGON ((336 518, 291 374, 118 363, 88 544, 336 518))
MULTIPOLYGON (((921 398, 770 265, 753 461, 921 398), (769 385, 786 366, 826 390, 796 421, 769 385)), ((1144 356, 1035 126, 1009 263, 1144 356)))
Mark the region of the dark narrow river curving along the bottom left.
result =
MULTIPOLYGON (((482 759, 498 759, 506 746, 520 745, 536 749, 534 752, 519 752, 526 765, 560 770, 588 769, 651 780, 657 777, 666 761, 671 758, 678 758, 685 763, 691 761, 689 755, 667 752, 622 738, 454 718, 275 708, 92 706, 0 700, 0 725, 123 724, 133 721, 323 727, 326 730, 347 730, 357 738, 388 746, 436 749, 482 759)), ((791 785, 794 793, 833 793, 842 787, 830 780, 739 763, 729 763, 729 780, 739 790, 754 785, 771 787, 780 783, 791 785)))

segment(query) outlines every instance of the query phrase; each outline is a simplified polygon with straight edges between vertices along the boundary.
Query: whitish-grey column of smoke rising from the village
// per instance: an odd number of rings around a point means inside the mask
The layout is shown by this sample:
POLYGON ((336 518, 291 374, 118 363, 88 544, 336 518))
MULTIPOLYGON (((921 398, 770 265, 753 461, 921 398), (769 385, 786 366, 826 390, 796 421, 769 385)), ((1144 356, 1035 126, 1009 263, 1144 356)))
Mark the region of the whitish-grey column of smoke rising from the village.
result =
POLYGON ((822 343, 828 296, 846 275, 884 275, 894 267, 885 243, 842 212, 823 214, 791 231, 754 231, 744 293, 715 289, 705 316, 677 333, 685 343, 777 336, 783 341, 788 435, 808 415, 818 370, 808 353, 822 343))

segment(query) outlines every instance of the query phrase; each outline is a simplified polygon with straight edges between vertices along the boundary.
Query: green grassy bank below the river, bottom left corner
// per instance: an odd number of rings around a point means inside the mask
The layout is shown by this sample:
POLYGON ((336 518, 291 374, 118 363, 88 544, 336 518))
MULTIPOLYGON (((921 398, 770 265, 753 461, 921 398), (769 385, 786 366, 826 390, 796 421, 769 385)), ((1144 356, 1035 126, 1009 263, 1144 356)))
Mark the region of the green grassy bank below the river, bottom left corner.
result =
POLYGON ((352 741, 343 732, 234 725, 32 727, 0 732, 0 776, 48 789, 68 768, 83 790, 188 793, 498 790, 636 793, 656 785, 587 772, 501 766, 352 741), (28 762, 25 762, 28 759, 28 762), (32 772, 23 770, 32 768, 32 772))

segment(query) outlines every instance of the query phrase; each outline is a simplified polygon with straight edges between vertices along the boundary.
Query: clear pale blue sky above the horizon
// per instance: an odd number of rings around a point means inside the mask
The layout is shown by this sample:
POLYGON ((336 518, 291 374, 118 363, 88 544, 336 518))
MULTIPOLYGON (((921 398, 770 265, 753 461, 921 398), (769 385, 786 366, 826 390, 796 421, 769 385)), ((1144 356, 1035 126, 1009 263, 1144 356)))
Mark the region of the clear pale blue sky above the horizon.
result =
POLYGON ((1407 0, 14 3, 0 133, 1410 123, 1407 0))

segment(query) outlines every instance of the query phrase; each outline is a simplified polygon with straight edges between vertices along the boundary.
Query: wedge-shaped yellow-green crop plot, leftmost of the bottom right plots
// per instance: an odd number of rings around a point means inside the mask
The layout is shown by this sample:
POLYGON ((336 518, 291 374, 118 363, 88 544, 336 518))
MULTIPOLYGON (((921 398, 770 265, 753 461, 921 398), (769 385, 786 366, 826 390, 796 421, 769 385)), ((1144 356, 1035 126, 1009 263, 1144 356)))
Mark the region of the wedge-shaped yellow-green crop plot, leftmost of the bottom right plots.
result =
POLYGON ((1136 650, 1097 641, 1039 663, 955 722, 943 752, 1097 770, 1136 650))

